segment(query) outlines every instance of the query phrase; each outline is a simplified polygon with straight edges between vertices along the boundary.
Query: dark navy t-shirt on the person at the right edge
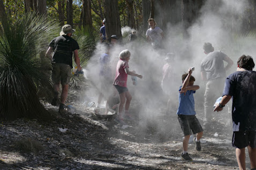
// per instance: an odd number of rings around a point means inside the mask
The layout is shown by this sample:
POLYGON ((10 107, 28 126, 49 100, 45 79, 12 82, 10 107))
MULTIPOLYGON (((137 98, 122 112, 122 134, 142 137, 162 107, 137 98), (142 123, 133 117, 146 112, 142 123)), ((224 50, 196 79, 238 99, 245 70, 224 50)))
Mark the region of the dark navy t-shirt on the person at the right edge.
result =
POLYGON ((256 130, 256 72, 230 74, 225 81, 224 95, 232 96, 233 132, 256 130))

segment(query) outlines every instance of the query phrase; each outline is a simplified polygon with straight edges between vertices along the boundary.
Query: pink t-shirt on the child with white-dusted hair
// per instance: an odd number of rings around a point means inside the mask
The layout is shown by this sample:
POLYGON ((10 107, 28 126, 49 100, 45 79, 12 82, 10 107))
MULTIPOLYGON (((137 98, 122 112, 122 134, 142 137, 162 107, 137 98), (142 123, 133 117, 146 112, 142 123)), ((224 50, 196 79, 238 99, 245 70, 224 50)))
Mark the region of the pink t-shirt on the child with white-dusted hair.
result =
POLYGON ((120 59, 116 65, 114 85, 127 87, 127 76, 125 68, 129 68, 128 61, 120 59))

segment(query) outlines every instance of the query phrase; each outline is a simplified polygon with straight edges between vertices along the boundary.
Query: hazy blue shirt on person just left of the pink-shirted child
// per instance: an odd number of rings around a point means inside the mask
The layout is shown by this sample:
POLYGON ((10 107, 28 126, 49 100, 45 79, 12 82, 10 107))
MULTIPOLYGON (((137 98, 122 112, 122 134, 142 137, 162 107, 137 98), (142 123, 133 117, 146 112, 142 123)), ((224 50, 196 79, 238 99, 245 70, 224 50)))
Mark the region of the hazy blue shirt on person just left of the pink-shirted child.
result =
POLYGON ((99 75, 104 76, 106 79, 112 78, 109 62, 110 62, 110 56, 107 55, 106 53, 103 53, 100 56, 100 73, 99 73, 99 75))

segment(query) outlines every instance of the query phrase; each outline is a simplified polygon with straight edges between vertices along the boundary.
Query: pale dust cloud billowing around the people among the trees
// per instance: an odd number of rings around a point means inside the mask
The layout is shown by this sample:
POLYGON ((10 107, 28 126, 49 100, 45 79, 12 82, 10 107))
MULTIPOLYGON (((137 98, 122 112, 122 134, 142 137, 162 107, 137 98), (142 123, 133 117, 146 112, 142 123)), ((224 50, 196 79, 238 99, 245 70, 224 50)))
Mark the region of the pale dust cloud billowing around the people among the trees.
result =
MULTIPOLYGON (((256 48, 253 47, 252 42, 255 41, 255 38, 238 34, 243 24, 239 16, 244 13, 246 5, 248 4, 245 1, 207 1, 201 8, 200 16, 191 27, 182 28, 181 23, 167 24, 168 27, 164 30, 163 48, 158 50, 152 49, 151 44, 145 42, 143 38, 135 42, 128 42, 127 36, 132 29, 127 26, 122 28, 122 35, 126 35, 126 37, 123 37, 123 42, 114 45, 110 52, 113 80, 119 53, 128 49, 131 52, 129 69, 143 75, 143 79, 137 79, 137 86, 133 85, 130 76, 128 76, 127 82, 127 87, 133 96, 130 112, 140 118, 142 128, 147 128, 147 123, 153 123, 156 129, 164 130, 165 127, 162 127, 161 122, 165 115, 169 119, 164 121, 178 122, 175 115, 178 107, 178 89, 182 85, 181 75, 187 72, 189 67, 195 67, 192 74, 195 77, 194 84, 200 86, 194 95, 196 113, 199 119, 203 119, 203 95, 206 83, 201 80, 200 73, 200 63, 206 56, 202 49, 203 43, 212 43, 215 50, 221 50, 234 61, 234 65, 226 73, 227 75, 236 71, 236 61, 240 56, 245 54, 254 57, 256 48), (185 29, 188 34, 186 37, 182 36, 182 30, 185 29), (167 112, 167 97, 161 88, 161 81, 164 59, 166 53, 169 52, 174 53, 175 58, 171 62, 174 75, 174 83, 170 87, 173 91, 172 110, 167 112), (136 107, 134 108, 134 106, 136 107)), ((94 55, 86 66, 87 76, 94 84, 86 94, 91 96, 94 102, 97 102, 100 90, 98 75, 101 53, 104 53, 104 48, 102 44, 98 43, 94 55)), ((105 96, 107 95, 109 95, 109 91, 105 92, 105 96)), ((177 130, 177 133, 182 133, 179 126, 173 128, 177 130)))

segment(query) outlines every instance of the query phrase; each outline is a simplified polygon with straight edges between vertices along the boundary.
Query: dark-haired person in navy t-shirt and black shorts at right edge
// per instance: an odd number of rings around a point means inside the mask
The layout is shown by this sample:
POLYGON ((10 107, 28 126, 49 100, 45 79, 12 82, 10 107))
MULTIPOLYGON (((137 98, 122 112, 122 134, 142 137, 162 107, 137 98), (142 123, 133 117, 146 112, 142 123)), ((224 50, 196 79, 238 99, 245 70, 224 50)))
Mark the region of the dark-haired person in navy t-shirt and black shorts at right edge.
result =
POLYGON ((251 169, 256 169, 256 72, 251 56, 241 56, 237 72, 226 78, 223 97, 214 111, 222 111, 232 97, 233 136, 239 169, 246 169, 245 147, 251 160, 251 169))

